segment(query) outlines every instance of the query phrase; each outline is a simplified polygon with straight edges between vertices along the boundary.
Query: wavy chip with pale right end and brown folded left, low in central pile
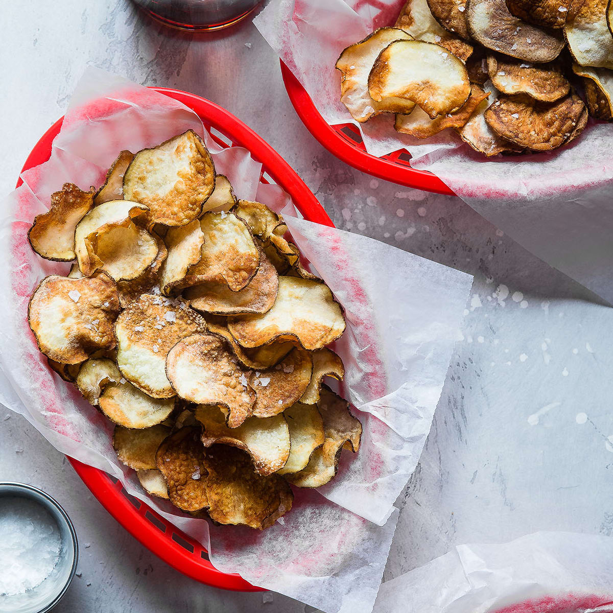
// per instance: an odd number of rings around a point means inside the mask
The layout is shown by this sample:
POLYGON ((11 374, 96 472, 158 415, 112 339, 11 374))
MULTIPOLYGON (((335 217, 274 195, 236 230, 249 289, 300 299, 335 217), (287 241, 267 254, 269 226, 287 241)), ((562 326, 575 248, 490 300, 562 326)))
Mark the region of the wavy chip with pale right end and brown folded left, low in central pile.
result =
POLYGON ((276 473, 287 462, 289 428, 283 415, 249 417, 238 428, 229 428, 218 408, 199 405, 196 419, 204 426, 201 439, 205 447, 219 443, 243 449, 251 455, 258 474, 276 473))

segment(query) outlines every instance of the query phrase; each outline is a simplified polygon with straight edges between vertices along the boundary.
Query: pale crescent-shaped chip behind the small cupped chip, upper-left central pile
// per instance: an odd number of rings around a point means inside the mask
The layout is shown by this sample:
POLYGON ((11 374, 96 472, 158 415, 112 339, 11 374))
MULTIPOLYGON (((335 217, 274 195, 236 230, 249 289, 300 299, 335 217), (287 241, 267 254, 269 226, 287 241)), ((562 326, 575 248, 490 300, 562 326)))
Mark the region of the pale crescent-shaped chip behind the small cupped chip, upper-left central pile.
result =
POLYGON ((91 275, 100 266, 99 261, 91 257, 88 249, 87 239, 105 226, 132 224, 132 219, 142 215, 147 211, 147 207, 138 202, 130 200, 109 200, 97 207, 94 207, 75 227, 74 232, 74 251, 77 257, 78 266, 85 276, 91 275))

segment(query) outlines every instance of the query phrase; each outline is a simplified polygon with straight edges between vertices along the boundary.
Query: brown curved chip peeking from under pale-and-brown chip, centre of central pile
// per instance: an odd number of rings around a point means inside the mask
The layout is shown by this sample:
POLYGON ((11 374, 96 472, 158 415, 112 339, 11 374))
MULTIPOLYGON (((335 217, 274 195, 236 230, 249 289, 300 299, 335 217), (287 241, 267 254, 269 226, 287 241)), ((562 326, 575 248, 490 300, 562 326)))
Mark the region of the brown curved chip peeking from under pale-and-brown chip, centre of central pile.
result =
POLYGON ((279 287, 279 275, 275 267, 260 252, 260 267, 249 284, 238 292, 233 292, 225 283, 200 283, 188 287, 183 297, 189 305, 205 313, 221 315, 240 315, 246 313, 266 313, 275 303, 279 287))

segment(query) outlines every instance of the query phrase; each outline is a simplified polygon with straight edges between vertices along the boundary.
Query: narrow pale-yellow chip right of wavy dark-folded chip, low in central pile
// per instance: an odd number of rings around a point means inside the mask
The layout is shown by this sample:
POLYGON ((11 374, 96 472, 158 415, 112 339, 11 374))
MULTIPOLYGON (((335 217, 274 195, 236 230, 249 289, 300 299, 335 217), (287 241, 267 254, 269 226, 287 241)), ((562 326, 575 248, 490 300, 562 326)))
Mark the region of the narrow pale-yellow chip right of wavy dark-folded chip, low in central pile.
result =
POLYGON ((313 451, 324 444, 324 422, 315 405, 301 402, 285 409, 283 416, 289 428, 291 448, 285 466, 277 474, 297 473, 307 466, 313 451))

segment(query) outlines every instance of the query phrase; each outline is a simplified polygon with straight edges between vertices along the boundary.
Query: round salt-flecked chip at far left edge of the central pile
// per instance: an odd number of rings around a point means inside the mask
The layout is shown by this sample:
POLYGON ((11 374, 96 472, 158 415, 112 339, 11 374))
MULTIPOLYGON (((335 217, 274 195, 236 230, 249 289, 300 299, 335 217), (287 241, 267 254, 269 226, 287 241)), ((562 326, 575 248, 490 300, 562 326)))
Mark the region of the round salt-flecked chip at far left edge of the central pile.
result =
POLYGON ((32 294, 28 322, 45 356, 77 364, 97 349, 115 346, 118 312, 115 281, 105 273, 82 279, 51 275, 32 294))

